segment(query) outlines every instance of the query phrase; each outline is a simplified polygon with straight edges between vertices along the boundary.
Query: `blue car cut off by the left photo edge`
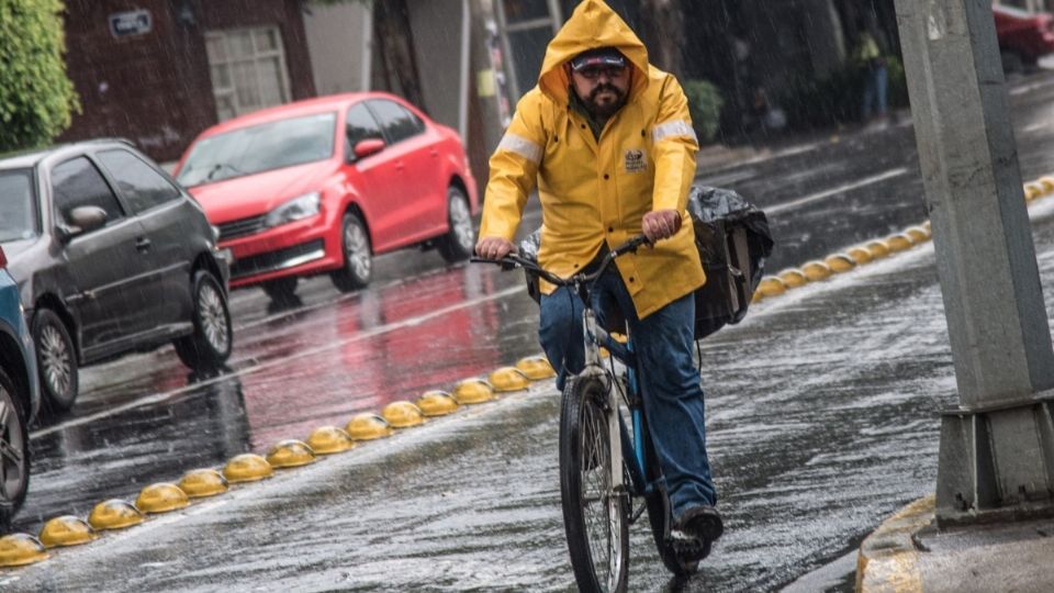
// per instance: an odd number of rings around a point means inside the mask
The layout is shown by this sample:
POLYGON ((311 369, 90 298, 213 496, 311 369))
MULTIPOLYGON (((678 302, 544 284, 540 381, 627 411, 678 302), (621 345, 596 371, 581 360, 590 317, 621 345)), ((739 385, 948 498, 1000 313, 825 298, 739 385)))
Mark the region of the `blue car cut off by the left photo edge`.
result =
POLYGON ((33 338, 7 266, 0 248, 0 532, 10 527, 30 486, 27 427, 41 406, 33 338))

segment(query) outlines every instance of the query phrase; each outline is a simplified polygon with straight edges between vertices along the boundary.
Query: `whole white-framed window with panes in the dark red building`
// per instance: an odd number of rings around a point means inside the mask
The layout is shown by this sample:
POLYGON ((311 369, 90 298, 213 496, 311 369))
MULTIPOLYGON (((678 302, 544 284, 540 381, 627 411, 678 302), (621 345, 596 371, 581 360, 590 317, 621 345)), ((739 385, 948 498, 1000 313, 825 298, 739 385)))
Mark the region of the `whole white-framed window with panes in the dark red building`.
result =
POLYGON ((221 122, 290 100, 289 71, 277 26, 210 31, 205 51, 221 122))

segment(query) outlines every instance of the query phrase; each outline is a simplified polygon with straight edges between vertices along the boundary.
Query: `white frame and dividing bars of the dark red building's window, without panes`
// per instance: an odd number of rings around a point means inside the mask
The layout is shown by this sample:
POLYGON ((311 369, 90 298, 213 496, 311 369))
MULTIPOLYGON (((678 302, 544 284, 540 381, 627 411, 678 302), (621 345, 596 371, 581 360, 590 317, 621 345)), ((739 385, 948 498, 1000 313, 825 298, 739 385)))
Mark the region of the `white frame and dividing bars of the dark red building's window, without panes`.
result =
MULTIPOLYGON (((213 68, 225 67, 227 68, 227 78, 231 81, 231 86, 221 87, 217 83, 218 81, 214 79, 212 80, 212 94, 216 100, 216 118, 220 121, 227 119, 220 113, 221 99, 229 99, 229 104, 234 107, 233 116, 235 118, 238 115, 243 115, 245 113, 257 111, 262 108, 273 107, 271 104, 243 105, 240 102, 238 102, 238 93, 237 93, 235 76, 234 76, 235 64, 250 63, 254 66, 256 66, 259 61, 278 58, 279 80, 277 82, 278 82, 280 101, 279 103, 276 103, 276 104, 288 103, 290 101, 289 68, 285 64, 285 49, 282 43, 282 32, 281 32, 281 29, 279 29, 278 26, 273 26, 273 25, 272 26, 253 26, 253 27, 208 31, 205 32, 205 48, 206 48, 205 53, 209 54, 206 58, 209 60, 209 77, 212 78, 213 68), (231 40, 235 33, 250 34, 250 37, 253 40, 253 54, 250 56, 234 57, 234 53, 232 52, 232 47, 231 47, 231 40), (268 33, 271 33, 274 35, 274 40, 277 41, 277 43, 274 44, 273 49, 266 49, 266 48, 261 49, 259 47, 257 38, 268 33), (213 56, 211 55, 210 52, 208 52, 208 48, 210 47, 212 42, 223 43, 224 54, 226 54, 224 56, 224 59, 217 59, 216 56, 213 56)), ((259 68, 254 67, 253 70, 256 74, 255 80, 256 80, 257 96, 262 97, 264 92, 260 86, 259 68)))

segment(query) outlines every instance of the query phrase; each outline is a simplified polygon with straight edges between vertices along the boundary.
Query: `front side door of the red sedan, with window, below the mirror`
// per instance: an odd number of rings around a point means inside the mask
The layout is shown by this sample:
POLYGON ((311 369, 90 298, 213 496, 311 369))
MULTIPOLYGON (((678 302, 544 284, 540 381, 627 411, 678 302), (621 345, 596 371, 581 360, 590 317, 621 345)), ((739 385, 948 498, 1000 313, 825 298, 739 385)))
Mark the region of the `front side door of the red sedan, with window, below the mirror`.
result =
POLYGON ((383 251, 399 240, 402 227, 399 192, 394 188, 402 177, 399 159, 390 147, 362 158, 355 157, 355 147, 365 139, 384 139, 381 126, 366 103, 356 103, 345 118, 345 134, 348 154, 348 180, 358 192, 359 205, 366 213, 366 224, 371 232, 375 251, 383 251))

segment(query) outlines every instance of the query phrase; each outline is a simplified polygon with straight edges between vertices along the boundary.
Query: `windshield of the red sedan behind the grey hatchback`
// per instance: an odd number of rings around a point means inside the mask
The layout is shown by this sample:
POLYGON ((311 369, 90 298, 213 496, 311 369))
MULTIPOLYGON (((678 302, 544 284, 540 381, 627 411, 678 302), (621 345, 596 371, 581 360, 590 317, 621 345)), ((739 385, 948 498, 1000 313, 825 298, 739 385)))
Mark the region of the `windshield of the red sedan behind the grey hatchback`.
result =
POLYGON ((208 137, 179 171, 191 188, 333 157, 336 113, 258 124, 208 137))

